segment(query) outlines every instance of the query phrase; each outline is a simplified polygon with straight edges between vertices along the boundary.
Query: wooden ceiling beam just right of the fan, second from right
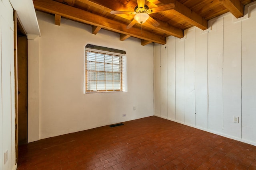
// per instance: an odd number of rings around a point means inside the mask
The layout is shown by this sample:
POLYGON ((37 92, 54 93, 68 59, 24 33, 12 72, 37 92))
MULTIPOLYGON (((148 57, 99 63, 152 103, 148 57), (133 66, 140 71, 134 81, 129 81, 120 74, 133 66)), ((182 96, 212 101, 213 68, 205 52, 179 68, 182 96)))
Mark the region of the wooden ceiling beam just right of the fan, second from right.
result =
POLYGON ((172 14, 177 16, 182 20, 186 20, 188 23, 202 29, 208 29, 208 21, 196 12, 190 10, 188 7, 184 6, 182 3, 177 0, 158 0, 163 4, 174 3, 175 8, 172 11, 172 14))

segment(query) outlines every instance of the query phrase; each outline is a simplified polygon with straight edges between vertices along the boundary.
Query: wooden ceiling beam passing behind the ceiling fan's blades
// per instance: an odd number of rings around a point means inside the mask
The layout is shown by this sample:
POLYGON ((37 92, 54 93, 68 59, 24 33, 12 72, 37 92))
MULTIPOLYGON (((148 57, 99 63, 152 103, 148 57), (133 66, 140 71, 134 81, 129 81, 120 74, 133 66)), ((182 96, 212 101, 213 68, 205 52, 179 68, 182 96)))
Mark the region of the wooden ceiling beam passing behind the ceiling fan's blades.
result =
MULTIPOLYGON (((106 0, 77 0, 79 2, 82 2, 84 4, 88 4, 90 6, 93 6, 95 8, 99 8, 101 10, 104 10, 106 12, 111 12, 112 10, 118 11, 134 11, 134 8, 130 8, 128 6, 125 6, 124 4, 118 2, 118 1, 106 1, 106 0)), ((118 15, 122 18, 126 18, 126 15, 118 15)), ((126 18, 127 19, 127 18, 126 18)), ((155 18, 154 18, 155 19, 155 18)), ((168 23, 165 23, 163 21, 157 20, 160 25, 158 27, 154 27, 152 24, 145 22, 143 23, 144 26, 150 27, 152 29, 161 31, 162 33, 165 33, 167 35, 173 35, 174 37, 182 38, 183 37, 183 30, 178 29, 176 27, 173 27, 172 25, 169 25, 168 23)))

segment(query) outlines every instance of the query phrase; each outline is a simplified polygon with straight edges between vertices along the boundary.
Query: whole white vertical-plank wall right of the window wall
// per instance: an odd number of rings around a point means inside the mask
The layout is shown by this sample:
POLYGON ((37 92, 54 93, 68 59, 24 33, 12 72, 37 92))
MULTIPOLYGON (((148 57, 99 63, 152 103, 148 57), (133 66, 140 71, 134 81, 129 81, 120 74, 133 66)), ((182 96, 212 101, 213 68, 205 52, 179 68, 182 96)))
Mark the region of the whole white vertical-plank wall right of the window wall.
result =
POLYGON ((167 53, 154 46, 155 115, 256 145, 256 3, 245 9, 243 18, 227 13, 209 30, 168 37, 167 53))

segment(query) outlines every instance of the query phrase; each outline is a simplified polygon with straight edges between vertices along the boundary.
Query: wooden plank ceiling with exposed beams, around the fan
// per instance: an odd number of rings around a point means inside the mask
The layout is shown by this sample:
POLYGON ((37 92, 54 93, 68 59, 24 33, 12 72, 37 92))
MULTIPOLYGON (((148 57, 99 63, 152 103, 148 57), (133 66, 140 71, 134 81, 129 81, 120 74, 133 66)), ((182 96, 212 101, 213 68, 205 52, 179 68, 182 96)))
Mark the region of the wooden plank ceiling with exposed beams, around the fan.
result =
POLYGON ((166 44, 166 37, 183 37, 183 31, 196 26, 208 29, 208 20, 231 12, 236 18, 244 16, 244 6, 256 0, 145 0, 151 9, 174 3, 172 10, 150 14, 160 25, 153 26, 150 21, 135 23, 130 29, 134 15, 110 14, 115 11, 134 11, 137 0, 33 0, 36 10, 55 15, 55 24, 61 26, 61 18, 92 25, 92 33, 100 29, 120 34, 120 41, 129 37, 141 39, 142 45, 149 43, 166 44))

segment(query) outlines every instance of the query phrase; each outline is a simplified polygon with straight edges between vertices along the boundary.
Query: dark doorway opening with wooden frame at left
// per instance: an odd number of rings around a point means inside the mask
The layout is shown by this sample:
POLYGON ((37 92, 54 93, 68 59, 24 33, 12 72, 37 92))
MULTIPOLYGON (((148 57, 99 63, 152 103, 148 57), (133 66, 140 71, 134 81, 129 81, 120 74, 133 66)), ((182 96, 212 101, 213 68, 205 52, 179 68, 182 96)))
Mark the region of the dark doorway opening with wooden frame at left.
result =
POLYGON ((14 12, 14 61, 16 78, 16 163, 18 146, 28 143, 28 41, 27 33, 14 12))

